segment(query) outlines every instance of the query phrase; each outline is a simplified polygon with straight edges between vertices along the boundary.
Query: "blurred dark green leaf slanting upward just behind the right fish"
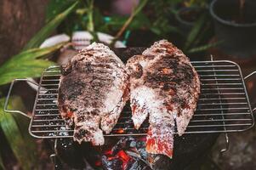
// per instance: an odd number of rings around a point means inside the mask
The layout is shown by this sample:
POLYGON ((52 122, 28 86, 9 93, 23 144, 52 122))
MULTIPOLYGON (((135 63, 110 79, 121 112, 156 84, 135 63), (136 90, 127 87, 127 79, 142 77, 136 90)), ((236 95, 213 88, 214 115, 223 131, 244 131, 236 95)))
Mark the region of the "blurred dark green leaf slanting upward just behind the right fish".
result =
POLYGON ((202 30, 202 26, 204 26, 204 23, 206 21, 206 15, 202 15, 202 17, 196 21, 195 26, 192 28, 189 36, 186 39, 185 42, 185 48, 186 51, 188 48, 191 47, 191 44, 196 40, 196 37, 199 35, 200 31, 202 30))

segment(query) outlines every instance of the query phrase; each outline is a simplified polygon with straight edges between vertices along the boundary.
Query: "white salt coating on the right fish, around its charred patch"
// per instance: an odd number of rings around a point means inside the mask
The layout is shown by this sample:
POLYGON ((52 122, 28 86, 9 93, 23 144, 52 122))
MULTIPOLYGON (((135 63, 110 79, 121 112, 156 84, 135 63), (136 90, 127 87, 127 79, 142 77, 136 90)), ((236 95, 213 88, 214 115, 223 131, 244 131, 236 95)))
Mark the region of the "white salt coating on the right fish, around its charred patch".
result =
MULTIPOLYGON (((185 57, 181 50, 167 40, 155 42, 151 48, 145 49, 142 55, 136 55, 128 59, 128 68, 131 75, 130 90, 131 90, 131 107, 133 111, 134 127, 139 128, 145 118, 149 116, 151 133, 147 136, 147 151, 152 154, 163 154, 172 157, 174 147, 174 127, 175 120, 179 135, 185 133, 185 128, 196 110, 196 101, 200 93, 200 82, 195 69, 190 63, 190 59, 185 57), (158 88, 153 88, 148 83, 147 73, 154 73, 156 63, 161 61, 162 57, 169 56, 170 59, 179 59, 179 65, 190 65, 194 72, 194 79, 191 84, 183 84, 183 88, 177 88, 176 94, 169 94, 168 99, 166 94, 169 92, 162 91, 161 85, 158 88), (142 67, 142 71, 140 66, 142 67), (140 75, 142 73, 142 75, 140 75), (192 94, 188 93, 192 92, 192 94), (170 103, 175 96, 182 96, 191 107, 191 109, 181 109, 180 103, 170 103), (170 108, 167 108, 170 107, 170 108), (181 116, 178 116, 180 113, 181 116), (152 141, 152 142, 151 142, 152 141), (149 143, 148 143, 149 142, 149 143), (162 150, 162 144, 165 150, 162 150)), ((168 72, 172 74, 172 72, 168 72)))

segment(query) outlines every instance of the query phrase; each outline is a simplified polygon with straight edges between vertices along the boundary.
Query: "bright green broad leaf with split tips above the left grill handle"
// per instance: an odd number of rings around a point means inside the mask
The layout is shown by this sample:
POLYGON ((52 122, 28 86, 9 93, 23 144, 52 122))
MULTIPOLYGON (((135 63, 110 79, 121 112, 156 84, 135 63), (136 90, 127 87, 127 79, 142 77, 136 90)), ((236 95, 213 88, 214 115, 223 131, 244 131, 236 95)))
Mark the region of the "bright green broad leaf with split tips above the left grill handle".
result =
POLYGON ((11 82, 14 78, 40 77, 42 71, 54 63, 38 58, 53 53, 63 44, 50 48, 33 48, 15 55, 0 67, 0 85, 11 82))

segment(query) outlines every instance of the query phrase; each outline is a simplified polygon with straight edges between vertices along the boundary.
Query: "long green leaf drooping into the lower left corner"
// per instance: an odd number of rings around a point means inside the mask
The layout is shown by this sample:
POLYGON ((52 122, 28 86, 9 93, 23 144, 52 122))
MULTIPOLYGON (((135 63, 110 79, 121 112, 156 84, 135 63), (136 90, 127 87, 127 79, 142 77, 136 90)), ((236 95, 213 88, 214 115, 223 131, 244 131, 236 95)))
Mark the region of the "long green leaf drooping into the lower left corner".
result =
MULTIPOLYGON (((31 151, 34 148, 30 148, 32 144, 28 143, 21 135, 14 117, 9 113, 3 112, 3 105, 4 99, 0 99, 0 126, 3 129, 3 133, 9 142, 10 148, 14 152, 14 156, 20 162, 22 169, 31 169, 37 165, 37 155, 31 151)), ((9 109, 12 108, 13 106, 9 105, 9 109)))

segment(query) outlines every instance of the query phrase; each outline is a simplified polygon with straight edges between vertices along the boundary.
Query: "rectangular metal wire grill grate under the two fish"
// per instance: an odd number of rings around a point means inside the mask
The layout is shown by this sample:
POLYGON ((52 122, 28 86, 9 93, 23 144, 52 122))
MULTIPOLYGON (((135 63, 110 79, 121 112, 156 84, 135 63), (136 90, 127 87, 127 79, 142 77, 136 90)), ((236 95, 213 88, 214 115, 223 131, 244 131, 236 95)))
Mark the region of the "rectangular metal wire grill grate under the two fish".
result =
MULTIPOLYGON (((249 104, 242 72, 231 61, 194 61, 202 82, 197 110, 185 133, 239 132, 253 127, 253 112, 249 104)), ((73 129, 65 127, 57 106, 60 67, 43 72, 33 109, 29 131, 37 138, 69 138, 73 129)), ((127 105, 111 134, 105 136, 145 135, 148 122, 134 129, 127 105)))

